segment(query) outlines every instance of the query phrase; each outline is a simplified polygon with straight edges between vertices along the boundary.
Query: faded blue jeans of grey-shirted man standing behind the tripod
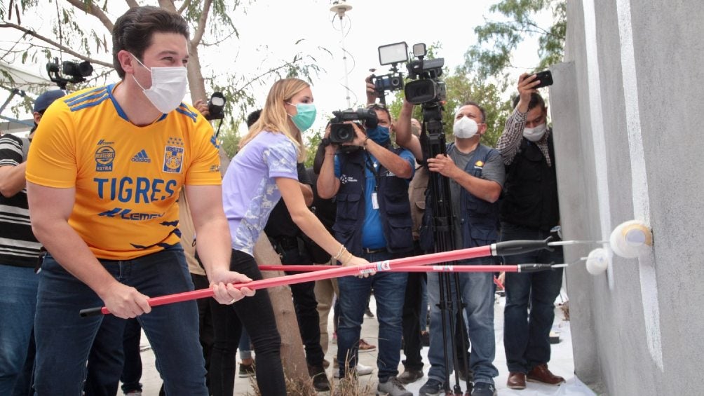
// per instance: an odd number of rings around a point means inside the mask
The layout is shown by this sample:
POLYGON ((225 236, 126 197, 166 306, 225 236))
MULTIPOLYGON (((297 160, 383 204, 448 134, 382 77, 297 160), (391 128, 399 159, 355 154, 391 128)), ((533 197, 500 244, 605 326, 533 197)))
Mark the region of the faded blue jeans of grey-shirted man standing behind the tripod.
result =
MULTIPOLYGON (((428 361, 430 370, 428 378, 441 383, 445 382, 445 373, 454 369, 453 359, 449 359, 449 367, 445 367, 445 354, 452 357, 450 342, 453 340, 450 333, 450 321, 446 317, 446 328, 443 336, 442 314, 451 314, 456 321, 457 297, 455 291, 454 274, 446 274, 451 282, 451 297, 453 312, 441 312, 438 307, 440 302, 439 273, 428 274, 428 305, 430 306, 430 347, 428 361), (443 350, 443 337, 448 340, 447 349, 443 350), (447 370, 447 371, 446 371, 447 370)), ((467 314, 467 332, 469 333, 472 349, 470 353, 470 369, 474 372, 474 382, 494 383, 498 370, 494 366, 496 354, 496 340, 494 338, 494 274, 489 272, 459 274, 460 293, 465 303, 467 314)), ((454 338, 457 340, 458 338, 454 338)), ((456 341, 454 341, 456 342, 456 341)), ((455 347, 455 350, 458 348, 455 347)), ((462 357, 464 359, 464 357, 462 357)))

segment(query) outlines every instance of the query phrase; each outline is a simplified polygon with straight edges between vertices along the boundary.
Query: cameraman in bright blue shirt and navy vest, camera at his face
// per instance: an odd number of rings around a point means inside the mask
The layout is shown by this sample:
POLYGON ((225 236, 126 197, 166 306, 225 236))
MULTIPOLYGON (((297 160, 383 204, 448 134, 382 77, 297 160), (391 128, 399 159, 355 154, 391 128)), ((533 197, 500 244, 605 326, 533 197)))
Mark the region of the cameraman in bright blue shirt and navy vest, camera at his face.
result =
MULTIPOLYGON (((358 149, 336 155, 338 145, 327 146, 317 186, 321 198, 337 194, 337 219, 333 226, 337 240, 354 255, 379 262, 408 255, 413 250, 408 182, 413 177, 415 158, 410 151, 391 146, 389 110, 377 105, 371 108, 377 115, 377 126, 363 131, 360 125, 347 122, 355 136, 342 146, 358 149)), ((406 278, 403 272, 380 272, 366 279, 353 276, 339 279, 340 376, 356 367, 367 296, 373 288, 379 318, 377 391, 392 396, 411 395, 396 378, 401 359, 402 290, 406 278)))

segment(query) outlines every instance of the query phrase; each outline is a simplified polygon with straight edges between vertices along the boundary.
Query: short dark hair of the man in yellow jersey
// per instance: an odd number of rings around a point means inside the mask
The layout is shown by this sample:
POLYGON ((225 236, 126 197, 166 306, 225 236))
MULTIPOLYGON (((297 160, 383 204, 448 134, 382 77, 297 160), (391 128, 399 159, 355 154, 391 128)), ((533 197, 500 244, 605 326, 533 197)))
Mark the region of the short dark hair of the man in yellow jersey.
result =
POLYGON ((125 78, 125 70, 120 66, 118 53, 129 51, 142 60, 144 50, 151 45, 153 34, 178 33, 189 37, 188 23, 181 15, 163 8, 144 6, 130 8, 122 14, 113 27, 113 66, 120 78, 125 78))

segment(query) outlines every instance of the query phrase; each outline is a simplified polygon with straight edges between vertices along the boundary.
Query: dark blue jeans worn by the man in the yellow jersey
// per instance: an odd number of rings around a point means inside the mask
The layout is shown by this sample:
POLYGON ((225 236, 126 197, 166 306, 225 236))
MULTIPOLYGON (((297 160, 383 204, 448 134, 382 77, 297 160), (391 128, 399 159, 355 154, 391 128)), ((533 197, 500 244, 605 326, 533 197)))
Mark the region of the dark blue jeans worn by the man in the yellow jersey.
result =
MULTIPOLYGON (((101 262, 115 279, 150 297, 193 290, 180 245, 134 260, 101 262)), ((100 305, 103 302, 93 290, 46 256, 34 320, 35 395, 81 395, 89 350, 103 317, 83 318, 78 311, 100 305)), ((137 320, 156 356, 166 395, 207 396, 196 302, 153 307, 137 320)))

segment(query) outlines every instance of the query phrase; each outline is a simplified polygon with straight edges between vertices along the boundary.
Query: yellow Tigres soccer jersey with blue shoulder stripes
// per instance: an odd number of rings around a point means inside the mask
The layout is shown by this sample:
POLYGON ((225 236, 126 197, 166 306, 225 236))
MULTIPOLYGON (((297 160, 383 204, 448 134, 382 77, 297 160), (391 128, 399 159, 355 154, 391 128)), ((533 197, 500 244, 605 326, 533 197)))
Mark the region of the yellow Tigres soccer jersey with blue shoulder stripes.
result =
POLYGON ((107 87, 49 106, 32 141, 27 180, 76 190, 68 219, 94 255, 130 260, 180 239, 181 187, 220 184, 213 128, 181 104, 137 127, 107 87))

